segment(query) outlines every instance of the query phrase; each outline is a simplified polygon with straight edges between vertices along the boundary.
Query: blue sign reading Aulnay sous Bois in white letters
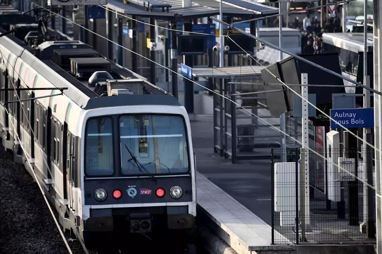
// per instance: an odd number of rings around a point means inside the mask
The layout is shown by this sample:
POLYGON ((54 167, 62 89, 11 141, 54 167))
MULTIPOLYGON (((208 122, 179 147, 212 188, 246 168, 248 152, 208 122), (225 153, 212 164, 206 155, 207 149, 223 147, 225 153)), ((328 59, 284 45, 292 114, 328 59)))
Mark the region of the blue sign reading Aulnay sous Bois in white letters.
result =
MULTIPOLYGON (((330 117, 346 128, 374 128, 373 108, 330 109, 330 117)), ((330 128, 342 128, 330 120, 330 128)))

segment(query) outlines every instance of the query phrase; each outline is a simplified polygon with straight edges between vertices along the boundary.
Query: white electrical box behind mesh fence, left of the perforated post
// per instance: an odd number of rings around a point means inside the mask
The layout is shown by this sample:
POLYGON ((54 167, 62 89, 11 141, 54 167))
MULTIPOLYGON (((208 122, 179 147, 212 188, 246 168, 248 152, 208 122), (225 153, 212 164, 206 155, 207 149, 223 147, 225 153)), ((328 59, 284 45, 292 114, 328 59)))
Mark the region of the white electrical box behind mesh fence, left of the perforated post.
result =
MULTIPOLYGON (((280 212, 280 226, 296 225, 296 162, 275 163, 275 212, 280 212)), ((298 163, 298 197, 301 194, 300 164, 298 163)), ((298 199, 298 210, 301 209, 298 199)), ((309 195, 305 196, 305 224, 309 224, 309 195)))

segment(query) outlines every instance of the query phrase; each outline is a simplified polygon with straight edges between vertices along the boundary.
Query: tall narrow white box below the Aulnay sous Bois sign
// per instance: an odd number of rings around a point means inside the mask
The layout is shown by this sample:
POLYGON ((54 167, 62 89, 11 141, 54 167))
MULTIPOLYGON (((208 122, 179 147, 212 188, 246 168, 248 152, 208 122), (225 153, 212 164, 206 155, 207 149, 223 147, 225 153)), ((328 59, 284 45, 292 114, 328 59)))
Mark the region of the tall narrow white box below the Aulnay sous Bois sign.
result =
POLYGON ((328 199, 333 202, 341 201, 341 179, 338 171, 340 157, 340 133, 332 130, 326 134, 326 152, 328 160, 328 199))

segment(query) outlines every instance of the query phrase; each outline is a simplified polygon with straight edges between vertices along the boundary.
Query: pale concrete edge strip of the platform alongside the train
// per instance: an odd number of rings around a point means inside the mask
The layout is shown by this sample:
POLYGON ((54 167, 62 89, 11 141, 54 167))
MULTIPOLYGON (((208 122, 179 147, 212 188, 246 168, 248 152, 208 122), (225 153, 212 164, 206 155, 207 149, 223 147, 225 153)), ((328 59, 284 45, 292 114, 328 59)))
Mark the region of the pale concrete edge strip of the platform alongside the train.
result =
MULTIPOLYGON (((197 203, 212 221, 227 232, 228 237, 220 237, 239 254, 275 249, 276 246, 270 244, 271 227, 200 173, 197 173, 197 203)), ((278 238, 284 238, 277 231, 275 234, 278 238)), ((285 241, 289 242, 286 238, 285 241)), ((290 249, 286 246, 277 248, 290 249)))

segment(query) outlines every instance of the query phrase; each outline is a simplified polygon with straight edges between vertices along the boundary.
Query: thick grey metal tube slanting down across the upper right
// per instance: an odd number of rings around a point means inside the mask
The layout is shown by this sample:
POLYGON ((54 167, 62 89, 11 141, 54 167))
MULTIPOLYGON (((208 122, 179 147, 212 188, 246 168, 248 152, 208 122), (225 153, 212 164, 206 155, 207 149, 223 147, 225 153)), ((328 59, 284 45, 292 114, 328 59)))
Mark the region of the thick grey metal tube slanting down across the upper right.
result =
MULTIPOLYGON (((229 26, 229 24, 227 24, 227 23, 225 23, 225 22, 223 22, 223 21, 220 21, 219 19, 214 18, 213 16, 211 16, 210 19, 212 19, 212 20, 214 20, 214 21, 217 21, 217 22, 219 22, 220 24, 229 26)), ((245 34, 245 35, 247 35, 248 37, 251 37, 251 38, 253 38, 253 39, 255 39, 255 40, 258 40, 259 42, 262 42, 262 43, 264 43, 265 45, 268 45, 268 46, 271 47, 271 48, 275 48, 275 49, 277 49, 277 50, 283 51, 284 53, 286 53, 286 54, 288 54, 288 55, 290 55, 290 56, 293 56, 294 58, 296 58, 296 59, 298 59, 298 60, 300 60, 300 61, 303 61, 303 62, 305 62, 305 63, 308 63, 308 64, 310 64, 310 65, 312 65, 312 66, 314 66, 314 67, 316 67, 316 68, 318 68, 318 69, 320 69, 320 70, 322 70, 322 71, 328 72, 328 73, 330 73, 330 74, 332 74, 332 75, 334 75, 334 76, 336 76, 336 77, 339 77, 339 78, 341 78, 341 79, 345 79, 346 81, 349 81, 350 83, 352 83, 352 84, 354 84, 354 85, 356 85, 356 86, 358 86, 358 87, 366 88, 366 86, 363 85, 363 84, 361 84, 361 82, 358 83, 358 82, 356 82, 356 81, 354 81, 354 80, 352 80, 352 79, 350 79, 350 78, 348 78, 348 77, 345 77, 345 76, 343 76, 343 75, 341 75, 341 74, 338 74, 337 72, 331 71, 331 70, 329 70, 329 69, 327 69, 327 68, 325 68, 325 67, 322 67, 322 66, 320 66, 320 65, 318 65, 318 64, 316 64, 316 63, 313 63, 313 62, 311 62, 311 61, 309 61, 309 60, 307 60, 307 59, 305 59, 305 58, 302 58, 301 56, 298 56, 298 55, 296 55, 296 54, 293 54, 293 53, 289 52, 288 50, 284 50, 284 49, 282 49, 282 48, 280 48, 280 47, 277 47, 276 45, 273 45, 272 43, 269 43, 269 42, 267 42, 267 41, 265 41, 265 40, 262 40, 262 39, 260 39, 259 37, 256 37, 256 36, 254 36, 254 35, 252 35, 252 34, 248 34, 248 33, 244 32, 244 31, 242 31, 242 30, 240 30, 240 29, 238 29, 238 28, 236 28, 236 27, 231 27, 231 28, 232 28, 233 30, 235 30, 235 31, 240 32, 241 34, 245 34)), ((370 91, 373 92, 373 93, 377 93, 378 95, 382 95, 382 92, 379 92, 379 91, 377 91, 377 90, 375 90, 375 89, 372 89, 372 88, 369 88, 369 87, 367 87, 366 89, 370 90, 370 91)))

